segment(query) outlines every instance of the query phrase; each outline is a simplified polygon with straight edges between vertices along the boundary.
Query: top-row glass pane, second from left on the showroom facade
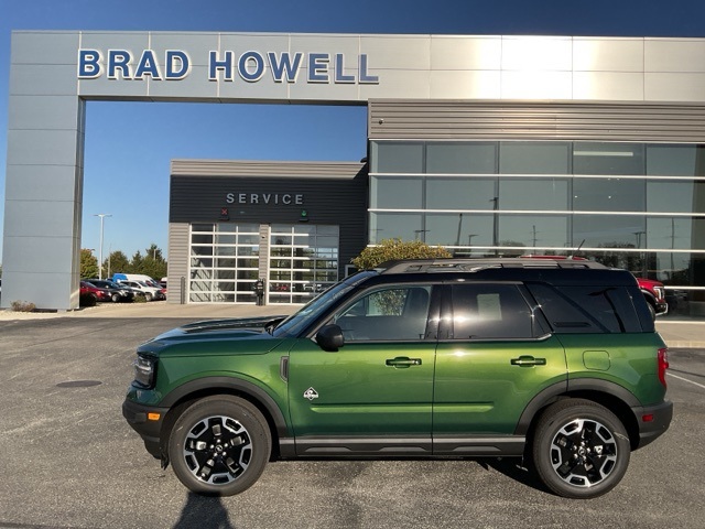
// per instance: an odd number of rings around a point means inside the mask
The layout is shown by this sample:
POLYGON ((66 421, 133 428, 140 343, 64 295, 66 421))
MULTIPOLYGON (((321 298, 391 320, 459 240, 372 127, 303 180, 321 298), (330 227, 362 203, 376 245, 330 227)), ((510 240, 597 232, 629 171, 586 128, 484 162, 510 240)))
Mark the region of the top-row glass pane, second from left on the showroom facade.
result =
POLYGON ((497 143, 426 143, 426 173, 495 174, 497 143))

